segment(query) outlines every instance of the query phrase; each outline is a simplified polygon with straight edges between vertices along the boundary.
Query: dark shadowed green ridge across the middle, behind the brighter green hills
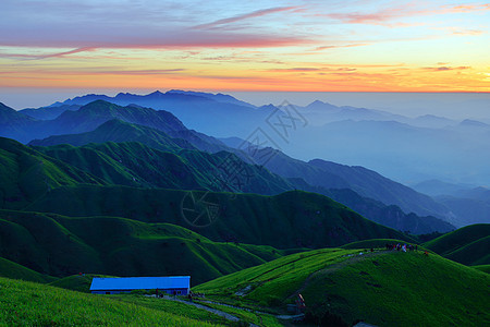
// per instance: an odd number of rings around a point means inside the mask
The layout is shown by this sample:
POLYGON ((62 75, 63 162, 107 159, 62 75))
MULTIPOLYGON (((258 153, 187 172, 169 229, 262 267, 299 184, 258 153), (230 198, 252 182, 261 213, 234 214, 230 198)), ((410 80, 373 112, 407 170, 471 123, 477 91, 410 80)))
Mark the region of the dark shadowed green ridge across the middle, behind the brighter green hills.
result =
POLYGON ((196 228, 199 234, 213 241, 231 240, 279 249, 338 246, 367 239, 409 240, 326 196, 301 191, 262 196, 79 185, 52 190, 26 209, 168 222, 196 228), (197 213, 203 215, 194 221, 197 213))

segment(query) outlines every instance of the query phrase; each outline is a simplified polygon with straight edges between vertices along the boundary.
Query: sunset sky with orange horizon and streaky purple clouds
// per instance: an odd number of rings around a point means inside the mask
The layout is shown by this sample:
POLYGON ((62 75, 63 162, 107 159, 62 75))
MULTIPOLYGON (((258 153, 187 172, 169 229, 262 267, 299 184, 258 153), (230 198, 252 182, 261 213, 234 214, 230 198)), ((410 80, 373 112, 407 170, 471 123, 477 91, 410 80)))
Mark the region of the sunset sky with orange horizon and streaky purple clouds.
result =
POLYGON ((172 88, 485 93, 489 24, 481 1, 1 0, 0 101, 172 88))

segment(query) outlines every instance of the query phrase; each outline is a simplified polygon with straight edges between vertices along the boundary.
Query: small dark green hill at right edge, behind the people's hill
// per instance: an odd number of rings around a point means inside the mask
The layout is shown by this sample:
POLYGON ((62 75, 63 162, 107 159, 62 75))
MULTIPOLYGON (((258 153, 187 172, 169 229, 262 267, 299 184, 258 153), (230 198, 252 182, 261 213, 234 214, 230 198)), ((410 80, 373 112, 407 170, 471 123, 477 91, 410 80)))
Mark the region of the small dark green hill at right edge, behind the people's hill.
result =
POLYGON ((460 228, 424 243, 424 246, 465 265, 489 265, 490 223, 460 228))

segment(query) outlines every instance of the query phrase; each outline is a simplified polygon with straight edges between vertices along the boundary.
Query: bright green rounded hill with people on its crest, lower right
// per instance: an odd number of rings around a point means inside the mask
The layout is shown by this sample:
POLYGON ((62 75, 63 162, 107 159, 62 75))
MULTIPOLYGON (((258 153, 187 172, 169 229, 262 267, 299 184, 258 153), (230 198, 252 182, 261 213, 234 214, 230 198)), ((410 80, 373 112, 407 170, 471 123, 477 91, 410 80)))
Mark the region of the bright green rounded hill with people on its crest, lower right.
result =
POLYGON ((357 253, 332 249, 294 254, 195 290, 278 307, 293 303, 301 292, 316 322, 335 315, 347 324, 380 326, 488 325, 487 274, 421 252, 357 253), (249 293, 234 295, 247 286, 249 293))

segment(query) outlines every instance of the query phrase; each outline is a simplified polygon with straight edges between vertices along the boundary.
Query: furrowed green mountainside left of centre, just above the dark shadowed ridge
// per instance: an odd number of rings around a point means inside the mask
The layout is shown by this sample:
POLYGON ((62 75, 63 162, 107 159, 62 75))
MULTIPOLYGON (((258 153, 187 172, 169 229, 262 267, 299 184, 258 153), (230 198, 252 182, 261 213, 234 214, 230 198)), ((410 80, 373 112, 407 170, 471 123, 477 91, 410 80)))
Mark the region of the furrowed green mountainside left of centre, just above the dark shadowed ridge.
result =
POLYGON ((90 172, 108 184, 260 194, 278 194, 293 189, 287 181, 267 169, 245 164, 224 152, 209 154, 180 149, 169 153, 136 142, 108 142, 82 147, 58 145, 36 149, 90 172), (241 165, 245 170, 246 175, 240 179, 240 183, 232 178, 225 181, 226 175, 221 167, 230 164, 241 165))

